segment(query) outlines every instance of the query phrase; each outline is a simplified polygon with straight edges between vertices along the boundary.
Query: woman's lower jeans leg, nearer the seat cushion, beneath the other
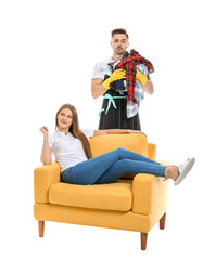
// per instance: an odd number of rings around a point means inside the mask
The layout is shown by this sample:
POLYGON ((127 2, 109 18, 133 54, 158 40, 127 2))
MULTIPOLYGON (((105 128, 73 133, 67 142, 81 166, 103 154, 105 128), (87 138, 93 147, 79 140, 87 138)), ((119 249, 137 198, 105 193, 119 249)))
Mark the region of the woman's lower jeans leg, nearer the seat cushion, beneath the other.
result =
POLYGON ((96 184, 112 183, 126 173, 150 173, 156 177, 165 177, 166 166, 151 164, 141 160, 122 159, 109 168, 97 181, 96 184))

